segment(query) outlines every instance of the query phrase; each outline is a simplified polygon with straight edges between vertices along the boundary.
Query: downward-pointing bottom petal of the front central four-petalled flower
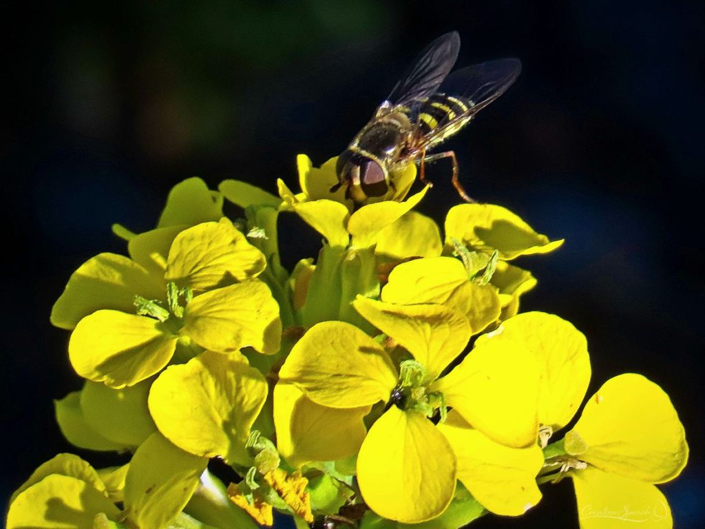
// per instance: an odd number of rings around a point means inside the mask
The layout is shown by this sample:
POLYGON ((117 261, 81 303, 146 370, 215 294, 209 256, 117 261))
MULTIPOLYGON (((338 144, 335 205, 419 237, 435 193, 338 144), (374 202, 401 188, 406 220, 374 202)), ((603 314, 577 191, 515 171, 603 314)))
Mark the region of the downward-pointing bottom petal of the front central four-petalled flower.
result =
POLYGON ((446 437, 417 412, 389 408, 357 456, 357 482, 379 516, 419 523, 442 513, 455 492, 455 456, 446 437))

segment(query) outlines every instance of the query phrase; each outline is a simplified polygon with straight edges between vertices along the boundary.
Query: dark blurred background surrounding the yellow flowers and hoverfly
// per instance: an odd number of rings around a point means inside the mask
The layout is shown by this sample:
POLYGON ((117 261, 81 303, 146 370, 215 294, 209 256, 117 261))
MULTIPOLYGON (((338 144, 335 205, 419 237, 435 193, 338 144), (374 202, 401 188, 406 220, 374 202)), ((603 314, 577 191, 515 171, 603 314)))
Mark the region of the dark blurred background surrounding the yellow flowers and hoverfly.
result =
MULTIPOLYGON (((431 39, 458 30, 459 66, 517 56, 524 71, 449 146, 470 195, 505 205, 558 252, 521 260, 524 310, 587 334, 590 391, 636 371, 670 394, 692 456, 662 487, 679 528, 703 518, 705 8, 699 1, 70 2, 0 16, 0 174, 6 268, 1 369, 5 501, 59 451, 51 399, 80 387, 49 325, 68 276, 110 225, 143 231, 188 176, 296 186, 295 155, 341 152, 431 39)), ((422 210, 459 202, 450 166, 422 210)), ((293 219, 291 264, 318 237, 293 219)), ((94 463, 104 456, 78 451, 94 463)), ((577 527, 569 480, 519 520, 577 527)))

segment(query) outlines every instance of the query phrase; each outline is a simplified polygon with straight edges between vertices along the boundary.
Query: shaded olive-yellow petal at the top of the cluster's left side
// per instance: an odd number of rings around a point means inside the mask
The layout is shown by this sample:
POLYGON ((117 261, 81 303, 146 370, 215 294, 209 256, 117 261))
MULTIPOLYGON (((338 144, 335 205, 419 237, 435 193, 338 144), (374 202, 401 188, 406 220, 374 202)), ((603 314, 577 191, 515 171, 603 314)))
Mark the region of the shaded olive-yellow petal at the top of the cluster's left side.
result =
POLYGON ((166 206, 159 217, 158 228, 195 226, 201 222, 218 221, 223 217, 223 197, 211 191, 200 178, 186 178, 169 191, 166 206))

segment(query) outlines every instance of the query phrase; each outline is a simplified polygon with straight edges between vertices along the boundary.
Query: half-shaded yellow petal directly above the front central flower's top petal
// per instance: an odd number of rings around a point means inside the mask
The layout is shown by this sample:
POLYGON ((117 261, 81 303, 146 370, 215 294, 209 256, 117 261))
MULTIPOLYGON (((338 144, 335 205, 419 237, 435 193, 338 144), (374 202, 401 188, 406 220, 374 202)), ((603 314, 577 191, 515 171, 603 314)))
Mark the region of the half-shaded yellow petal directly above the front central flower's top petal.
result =
POLYGON ((496 288, 469 281, 462 262, 453 257, 429 257, 398 265, 389 274, 381 297, 401 305, 448 305, 467 317, 474 334, 495 322, 501 312, 496 288))

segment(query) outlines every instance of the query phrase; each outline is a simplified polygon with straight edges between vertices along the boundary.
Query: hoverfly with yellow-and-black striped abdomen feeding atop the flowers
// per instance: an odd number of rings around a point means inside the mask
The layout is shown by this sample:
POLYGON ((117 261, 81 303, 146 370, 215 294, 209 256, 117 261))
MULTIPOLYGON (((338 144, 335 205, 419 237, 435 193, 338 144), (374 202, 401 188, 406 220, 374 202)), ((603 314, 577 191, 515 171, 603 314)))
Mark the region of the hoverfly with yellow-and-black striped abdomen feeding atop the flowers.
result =
POLYGON ((453 162, 453 186, 467 202, 474 202, 458 181, 455 152, 428 150, 467 125, 478 111, 497 99, 521 71, 518 59, 501 59, 467 66, 450 73, 458 59, 458 32, 441 35, 424 49, 414 66, 399 80, 372 119, 338 157, 335 192, 346 186, 345 197, 359 204, 393 189, 389 173, 419 164, 419 179, 428 183, 424 164, 442 158, 453 162))

